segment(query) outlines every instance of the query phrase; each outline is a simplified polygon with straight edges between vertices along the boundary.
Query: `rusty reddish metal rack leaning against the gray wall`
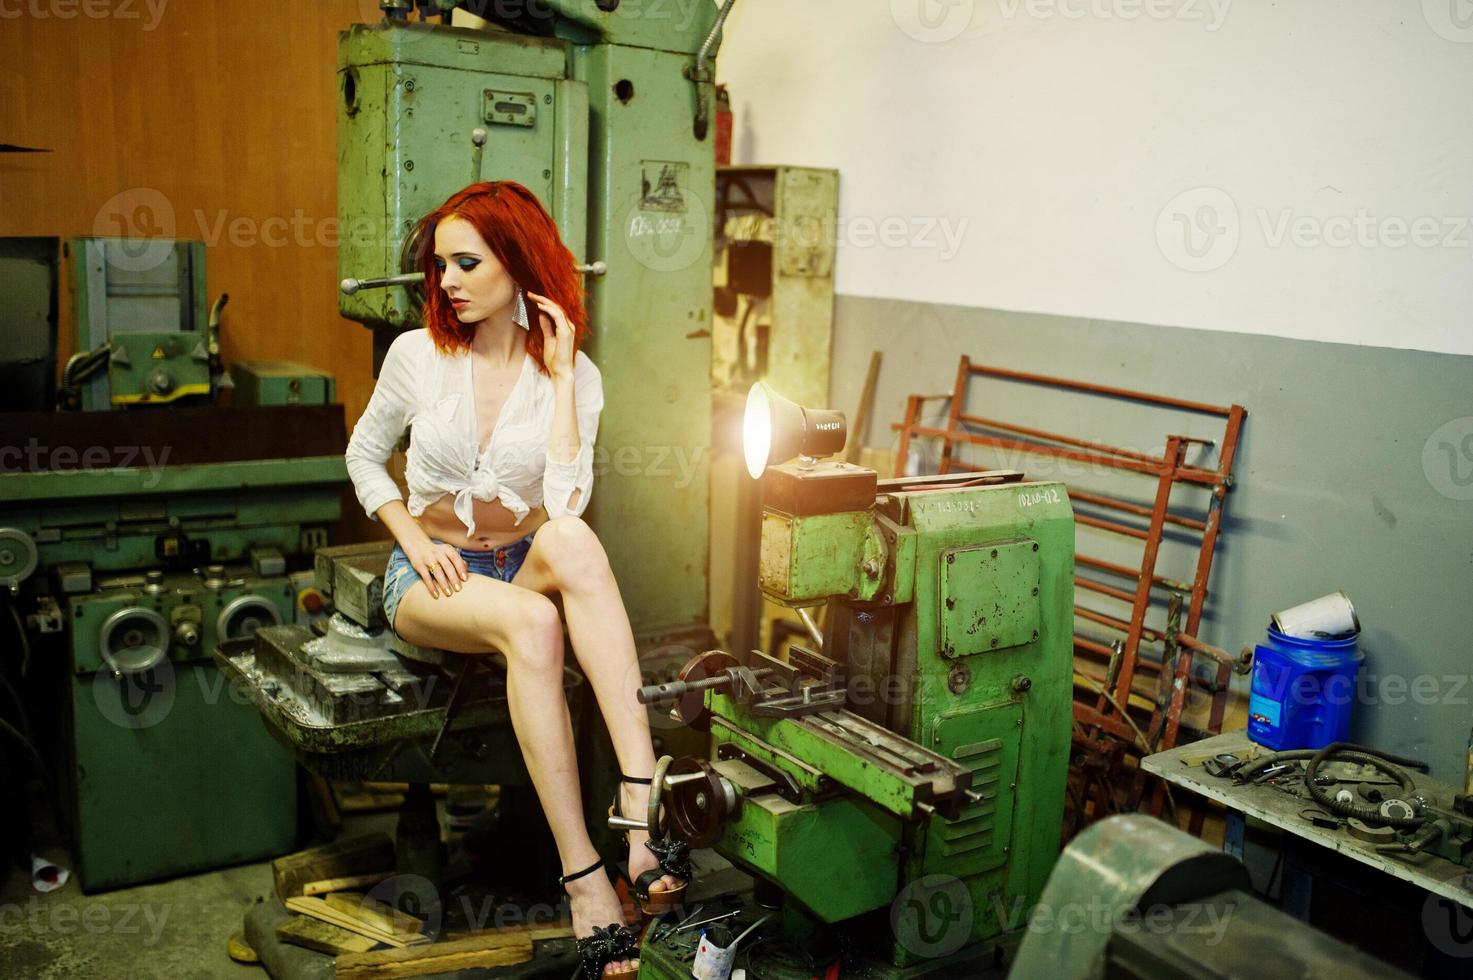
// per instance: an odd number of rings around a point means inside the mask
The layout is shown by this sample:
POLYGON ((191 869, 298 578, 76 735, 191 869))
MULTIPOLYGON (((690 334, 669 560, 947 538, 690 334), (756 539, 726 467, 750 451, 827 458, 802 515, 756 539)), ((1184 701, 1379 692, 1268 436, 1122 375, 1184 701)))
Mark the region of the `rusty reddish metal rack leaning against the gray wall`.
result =
MULTIPOLYGON (((1093 385, 1089 382, 1028 374, 984 364, 975 364, 962 357, 956 371, 956 386, 941 395, 910 395, 906 401, 904 421, 896 424, 900 441, 896 452, 896 475, 901 476, 910 452, 912 439, 935 439, 940 442, 941 473, 956 472, 959 464, 956 449, 962 444, 991 447, 1010 452, 1052 457, 1102 467, 1105 472, 1119 472, 1149 477, 1155 483, 1152 503, 1137 504, 1119 497, 1090 492, 1069 486, 1069 498, 1077 507, 1075 522, 1086 528, 1119 535, 1140 542, 1140 564, 1131 567, 1118 561, 1089 554, 1075 556, 1074 584, 1077 595, 1105 595, 1128 603, 1130 619, 1111 616, 1097 609, 1075 603, 1078 620, 1103 626, 1119 634, 1114 643, 1102 643, 1097 637, 1075 628, 1075 757, 1083 760, 1080 783, 1087 787, 1097 784, 1105 796, 1121 785, 1122 762, 1128 755, 1161 752, 1175 746, 1181 727, 1181 712, 1186 704, 1187 685, 1193 678, 1193 663, 1198 657, 1217 665, 1215 681, 1206 687, 1212 703, 1206 731, 1221 731, 1223 713, 1227 706, 1228 679, 1233 671, 1246 669, 1240 657, 1212 647, 1198 638, 1202 610, 1208 597, 1208 581, 1212 572, 1212 556, 1223 526, 1223 508, 1233 486, 1233 461, 1248 411, 1242 405, 1209 405, 1206 402, 1170 398, 1149 392, 1093 385), (1081 439, 1043 429, 1021 426, 1002 419, 966 411, 966 393, 974 377, 990 377, 1008 382, 1038 385, 1087 396, 1124 399, 1140 405, 1168 408, 1200 416, 1215 416, 1224 420, 1223 435, 1217 439, 1200 439, 1184 435, 1168 435, 1161 455, 1125 449, 1103 442, 1081 439), (922 423, 925 402, 947 399, 946 427, 922 423), (1187 451, 1192 445, 1217 449, 1217 466, 1189 466, 1187 451), (1203 516, 1189 516, 1171 508, 1173 489, 1192 485, 1209 491, 1209 503, 1203 516), (1078 507, 1090 513, 1078 513, 1078 507), (1117 519, 1114 514, 1119 514, 1117 519), (1131 522, 1131 519, 1136 519, 1131 522), (1147 519, 1145 523, 1140 519, 1147 519), (1131 522, 1131 523, 1127 523, 1131 522), (1196 563, 1190 582, 1168 578, 1158 569, 1158 554, 1167 528, 1173 535, 1187 535, 1196 539, 1196 563), (1114 582, 1114 584, 1112 584, 1114 582), (1146 625, 1146 616, 1153 603, 1167 601, 1167 626, 1153 629, 1146 625), (1183 622, 1184 613, 1184 622, 1183 622), (1159 645, 1159 657, 1143 657, 1143 644, 1159 645), (1100 666, 1103 665, 1103 673, 1100 666), (1155 696, 1149 709, 1142 706, 1143 696, 1137 679, 1156 676, 1155 696), (1134 703, 1131 697, 1136 696, 1134 703), (1143 724, 1131 718, 1147 715, 1143 724)), ((969 469, 969 467, 968 467, 969 469)), ((1127 780, 1128 808, 1139 805, 1143 780, 1127 780)), ((1114 799, 1094 797, 1094 816, 1117 806, 1114 799)), ((1150 811, 1159 813, 1162 788, 1158 785, 1150 800, 1150 811)), ((1087 819, 1084 803, 1077 799, 1077 825, 1087 819)), ((1200 813, 1193 815, 1193 830, 1200 827, 1200 813)))

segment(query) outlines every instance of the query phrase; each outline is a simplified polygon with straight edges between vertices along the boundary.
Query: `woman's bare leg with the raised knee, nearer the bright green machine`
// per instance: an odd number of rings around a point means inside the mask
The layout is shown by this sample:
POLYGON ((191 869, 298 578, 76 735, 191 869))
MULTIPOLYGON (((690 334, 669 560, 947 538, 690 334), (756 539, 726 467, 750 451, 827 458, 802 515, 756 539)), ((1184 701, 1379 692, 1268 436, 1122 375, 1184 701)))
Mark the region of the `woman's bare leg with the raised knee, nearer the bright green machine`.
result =
MULTIPOLYGON (((546 522, 538 528, 532 550, 513 582, 536 592, 561 594, 573 653, 598 697, 619 766, 627 775, 651 775, 654 747, 650 716, 635 697, 641 678, 633 631, 598 536, 577 517, 546 522)), ((648 799, 647 785, 620 785, 620 812, 626 816, 642 815, 648 799)), ((648 834, 642 831, 629 833, 630 878, 657 864, 644 846, 645 840, 648 834)), ((663 875, 651 890, 678 884, 679 878, 663 875)))

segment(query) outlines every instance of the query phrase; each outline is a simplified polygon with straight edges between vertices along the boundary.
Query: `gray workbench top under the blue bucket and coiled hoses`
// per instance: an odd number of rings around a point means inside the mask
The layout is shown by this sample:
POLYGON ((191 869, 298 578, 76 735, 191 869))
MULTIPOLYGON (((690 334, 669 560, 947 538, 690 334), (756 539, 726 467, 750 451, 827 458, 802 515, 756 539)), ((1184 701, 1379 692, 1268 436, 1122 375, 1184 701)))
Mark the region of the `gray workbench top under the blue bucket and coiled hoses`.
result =
MULTIPOLYGON (((1196 763, 1196 760, 1217 753, 1231 753, 1245 759, 1246 753, 1252 750, 1258 752, 1258 757, 1271 753, 1270 749, 1255 746, 1248 738, 1248 732, 1234 731, 1189 746, 1178 746, 1168 752, 1158 752, 1142 759, 1140 765, 1146 772, 1161 777, 1171 785, 1190 790, 1226 806, 1228 825, 1223 849, 1233 852, 1239 859, 1243 856, 1243 819, 1252 816, 1473 911, 1473 868, 1464 868, 1433 855, 1398 858, 1377 853, 1374 844, 1352 837, 1343 828, 1315 827, 1301 816, 1301 811, 1314 806, 1308 796, 1296 796, 1271 785, 1252 783, 1239 785, 1231 778, 1208 775, 1202 765, 1196 763)), ((1451 785, 1418 772, 1413 772, 1411 777, 1417 784, 1417 791, 1430 803, 1451 805, 1455 793, 1451 785)))

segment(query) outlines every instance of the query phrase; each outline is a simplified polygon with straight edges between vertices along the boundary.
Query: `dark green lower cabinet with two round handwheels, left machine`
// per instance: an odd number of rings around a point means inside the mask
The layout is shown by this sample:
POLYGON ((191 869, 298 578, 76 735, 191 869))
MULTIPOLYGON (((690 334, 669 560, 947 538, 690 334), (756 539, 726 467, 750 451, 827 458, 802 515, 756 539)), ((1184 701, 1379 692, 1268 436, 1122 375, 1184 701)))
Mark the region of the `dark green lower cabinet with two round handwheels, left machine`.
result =
POLYGON ((149 570, 69 600, 66 772, 88 892, 292 849, 292 757, 209 660, 290 622, 295 592, 274 572, 149 570))

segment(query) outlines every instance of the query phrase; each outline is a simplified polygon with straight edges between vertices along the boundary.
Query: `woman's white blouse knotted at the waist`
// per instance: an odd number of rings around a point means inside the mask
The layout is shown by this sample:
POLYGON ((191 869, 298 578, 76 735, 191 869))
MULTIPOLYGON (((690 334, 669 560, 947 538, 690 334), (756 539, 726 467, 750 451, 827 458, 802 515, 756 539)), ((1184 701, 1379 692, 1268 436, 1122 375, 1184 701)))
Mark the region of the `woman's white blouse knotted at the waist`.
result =
POLYGON ((455 494, 455 516, 467 535, 476 533, 473 498, 499 500, 518 525, 538 505, 545 505, 549 517, 582 514, 594 485, 594 436, 604 410, 602 379, 582 351, 573 360, 573 398, 577 455, 566 463, 549 460, 552 379, 536 368, 527 352, 491 442, 477 454, 470 351, 443 355, 429 330, 407 330, 389 345, 368 407, 348 441, 348 477, 358 503, 379 520, 374 511, 402 500, 384 464, 408 426, 404 476, 411 516, 418 517, 448 492, 455 494), (579 498, 570 507, 574 491, 579 498))

